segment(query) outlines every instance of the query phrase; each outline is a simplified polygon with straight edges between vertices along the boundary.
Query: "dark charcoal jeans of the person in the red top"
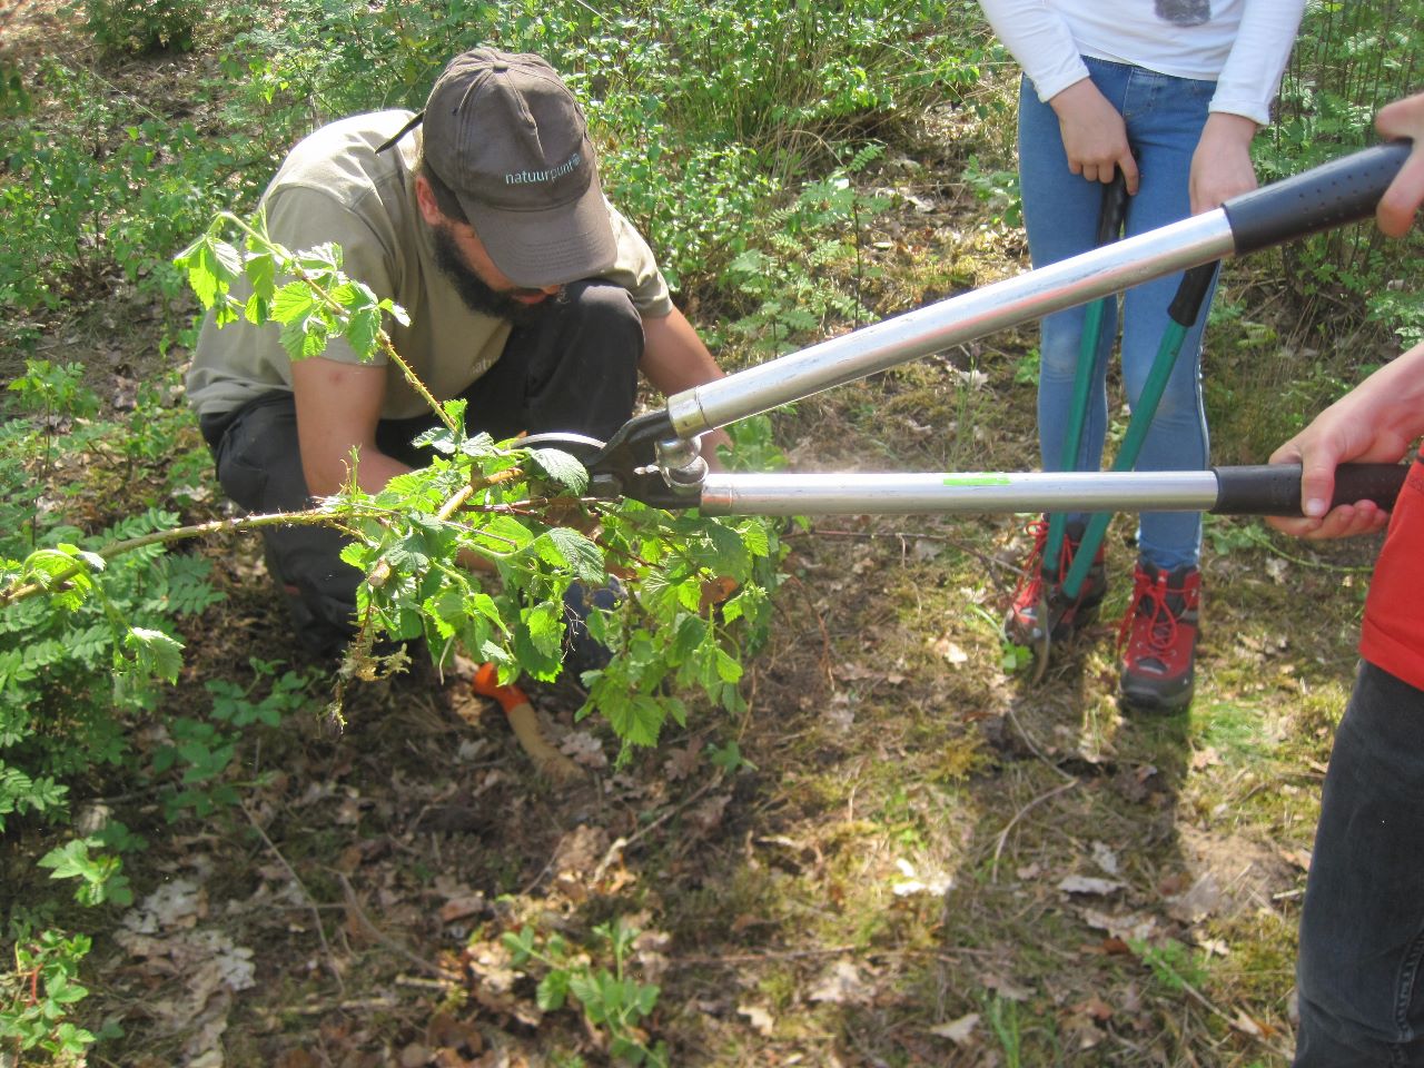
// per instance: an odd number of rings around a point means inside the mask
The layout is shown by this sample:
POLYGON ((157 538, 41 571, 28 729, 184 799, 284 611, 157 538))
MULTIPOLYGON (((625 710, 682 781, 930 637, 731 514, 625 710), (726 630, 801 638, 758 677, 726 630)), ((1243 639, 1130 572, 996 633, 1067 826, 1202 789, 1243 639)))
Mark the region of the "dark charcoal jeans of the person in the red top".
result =
POLYGON ((1300 917, 1294 1068, 1424 1065, 1424 691, 1364 664, 1300 917))

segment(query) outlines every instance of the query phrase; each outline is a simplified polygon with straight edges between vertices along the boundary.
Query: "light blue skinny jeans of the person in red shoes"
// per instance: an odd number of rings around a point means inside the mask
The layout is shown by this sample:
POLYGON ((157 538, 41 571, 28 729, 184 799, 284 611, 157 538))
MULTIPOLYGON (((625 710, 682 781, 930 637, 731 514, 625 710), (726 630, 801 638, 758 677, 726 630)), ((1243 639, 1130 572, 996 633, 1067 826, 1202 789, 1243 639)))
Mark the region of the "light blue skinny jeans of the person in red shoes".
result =
MULTIPOLYGON (((1085 57, 1098 90, 1122 112, 1142 184, 1128 202, 1124 232, 1142 234, 1190 215, 1188 177, 1192 152, 1206 122, 1216 83, 1173 78, 1141 67, 1085 57)), ((1094 248, 1102 205, 1101 182, 1068 172, 1058 117, 1040 103, 1024 78, 1018 107, 1018 172, 1024 225, 1034 266, 1044 266, 1094 248)), ((1121 299, 1122 377, 1128 403, 1136 406, 1168 329, 1168 306, 1180 275, 1143 282, 1121 299)), ((1215 292, 1215 282, 1212 285, 1215 292)), ((1206 413, 1202 409, 1202 328, 1209 292, 1182 343, 1152 429, 1142 443, 1141 471, 1202 470, 1208 466, 1206 413)), ((1102 318, 1094 357, 1094 387, 1077 457, 1064 457, 1074 372, 1078 366, 1085 308, 1045 316, 1040 342, 1038 436, 1044 470, 1098 470, 1108 427, 1106 369, 1118 315, 1102 318)), ((1081 517, 1075 517, 1081 518, 1081 517)), ((1139 528, 1142 560, 1158 568, 1196 565, 1202 547, 1199 513, 1143 513, 1139 528)))

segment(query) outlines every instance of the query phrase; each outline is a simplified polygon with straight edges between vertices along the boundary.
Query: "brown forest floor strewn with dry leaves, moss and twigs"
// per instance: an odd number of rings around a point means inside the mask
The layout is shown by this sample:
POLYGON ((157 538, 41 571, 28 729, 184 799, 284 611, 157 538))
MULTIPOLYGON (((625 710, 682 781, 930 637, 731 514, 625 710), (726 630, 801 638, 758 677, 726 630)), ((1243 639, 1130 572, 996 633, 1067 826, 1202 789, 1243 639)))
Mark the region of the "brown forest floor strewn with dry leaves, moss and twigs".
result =
MULTIPOLYGON (((141 93, 157 75, 108 77, 141 93)), ((927 114, 864 177, 901 195, 864 242, 883 315, 1027 269, 1018 232, 956 177, 965 137, 927 114)), ((158 320, 94 306, 53 330, 122 404, 158 320)), ((775 413, 778 443, 806 471, 1032 470, 1034 345, 1025 325, 839 387, 775 413)), ((1233 366, 1209 347, 1208 379, 1233 366)), ((1037 684, 1005 649, 1027 518, 792 530, 740 721, 693 708, 615 770, 611 732, 575 723, 567 688, 531 688, 585 768, 571 786, 534 775, 459 672, 362 688, 326 729, 330 681, 293 659, 258 544, 206 543, 226 598, 188 629, 140 750, 209 681, 249 685, 249 656, 306 672, 308 711, 251 733, 235 807, 168 824, 142 792, 81 806, 150 840, 140 904, 84 917, 85 1017, 124 1030, 91 1062, 608 1062, 607 1031, 541 1008, 547 968, 511 960, 501 936, 530 928, 578 947, 575 971, 656 984, 644 1034, 678 1065, 1284 1065, 1376 545, 1209 517, 1196 699, 1163 718, 1115 698, 1131 517, 1111 528, 1102 622, 1037 684), (715 763, 729 740, 743 762, 715 763), (624 957, 595 930, 619 923, 637 931, 624 957)), ((46 847, 0 839, 11 860, 46 847)))

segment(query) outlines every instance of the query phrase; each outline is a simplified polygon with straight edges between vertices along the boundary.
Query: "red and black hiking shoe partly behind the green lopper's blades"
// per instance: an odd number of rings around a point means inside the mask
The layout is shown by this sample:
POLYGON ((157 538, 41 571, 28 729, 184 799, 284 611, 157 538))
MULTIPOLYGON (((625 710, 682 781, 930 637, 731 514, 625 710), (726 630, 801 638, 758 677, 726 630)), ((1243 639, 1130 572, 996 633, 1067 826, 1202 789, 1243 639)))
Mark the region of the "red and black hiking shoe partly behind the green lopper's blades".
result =
POLYGON ((1068 523, 1064 527, 1064 543, 1058 561, 1049 565, 1044 560, 1048 547, 1048 517, 1028 525, 1034 535, 1034 548, 1024 564, 1024 574, 1014 591, 1014 604, 1004 617, 1004 635, 1017 645, 1044 648, 1049 642, 1062 641, 1098 618, 1098 605, 1108 592, 1108 572, 1104 568, 1102 544, 1092 557, 1092 567, 1078 588, 1078 597, 1064 594, 1062 580, 1072 567, 1078 545, 1087 524, 1068 523), (1045 615, 1047 612, 1047 615, 1045 615))

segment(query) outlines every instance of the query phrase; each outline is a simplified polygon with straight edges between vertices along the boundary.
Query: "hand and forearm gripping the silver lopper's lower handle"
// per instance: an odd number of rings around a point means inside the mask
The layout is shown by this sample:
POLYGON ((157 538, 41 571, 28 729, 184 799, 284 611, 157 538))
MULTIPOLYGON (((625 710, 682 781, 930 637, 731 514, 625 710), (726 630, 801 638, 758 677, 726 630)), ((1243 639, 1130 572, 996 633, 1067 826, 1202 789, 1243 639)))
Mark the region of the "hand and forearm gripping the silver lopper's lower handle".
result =
POLYGON ((1381 367, 1270 456, 1273 464, 1299 463, 1304 518, 1267 518, 1276 530, 1302 538, 1370 534, 1388 521, 1373 501, 1330 508, 1334 468, 1347 461, 1397 463, 1424 431, 1424 345, 1381 367))

